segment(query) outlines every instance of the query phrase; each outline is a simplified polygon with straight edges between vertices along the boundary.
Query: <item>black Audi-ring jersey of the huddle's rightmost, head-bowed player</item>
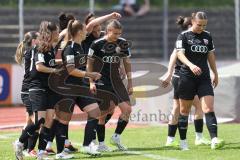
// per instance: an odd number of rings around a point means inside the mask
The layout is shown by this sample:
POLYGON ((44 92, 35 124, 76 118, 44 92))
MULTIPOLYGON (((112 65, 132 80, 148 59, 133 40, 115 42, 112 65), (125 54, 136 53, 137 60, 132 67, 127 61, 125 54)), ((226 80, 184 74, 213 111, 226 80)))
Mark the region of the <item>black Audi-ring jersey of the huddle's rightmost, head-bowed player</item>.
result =
MULTIPOLYGON (((116 42, 108 42, 105 37, 94 41, 89 48, 89 57, 102 61, 103 66, 100 71, 101 80, 104 84, 111 84, 110 72, 117 71, 121 58, 131 56, 129 43, 124 38, 118 38, 116 42), (110 69, 110 66, 112 67, 110 69)), ((119 75, 119 72, 114 73, 119 75)))

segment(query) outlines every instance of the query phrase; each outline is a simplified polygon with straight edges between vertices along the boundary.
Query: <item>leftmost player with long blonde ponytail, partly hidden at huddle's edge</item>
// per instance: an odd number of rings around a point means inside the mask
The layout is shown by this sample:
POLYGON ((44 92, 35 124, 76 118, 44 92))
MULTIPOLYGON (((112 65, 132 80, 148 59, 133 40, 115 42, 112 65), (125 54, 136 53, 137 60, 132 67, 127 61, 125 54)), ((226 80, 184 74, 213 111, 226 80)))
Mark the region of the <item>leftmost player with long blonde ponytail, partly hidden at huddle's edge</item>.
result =
MULTIPOLYGON (((24 35, 24 39, 21 43, 19 43, 17 47, 17 51, 15 54, 15 61, 19 65, 23 65, 24 67, 24 78, 22 81, 22 89, 21 89, 21 99, 23 104, 26 107, 26 125, 23 128, 22 133, 24 133, 24 129, 28 125, 32 125, 34 123, 34 116, 32 111, 32 106, 29 100, 29 78, 30 78, 30 64, 31 57, 34 54, 32 49, 37 44, 37 36, 38 32, 30 31, 24 35)), ((36 157, 36 152, 34 150, 36 141, 38 139, 38 133, 35 133, 28 140, 24 141, 23 149, 27 149, 27 153, 31 157, 36 157)), ((17 155, 17 154, 16 154, 17 155)))

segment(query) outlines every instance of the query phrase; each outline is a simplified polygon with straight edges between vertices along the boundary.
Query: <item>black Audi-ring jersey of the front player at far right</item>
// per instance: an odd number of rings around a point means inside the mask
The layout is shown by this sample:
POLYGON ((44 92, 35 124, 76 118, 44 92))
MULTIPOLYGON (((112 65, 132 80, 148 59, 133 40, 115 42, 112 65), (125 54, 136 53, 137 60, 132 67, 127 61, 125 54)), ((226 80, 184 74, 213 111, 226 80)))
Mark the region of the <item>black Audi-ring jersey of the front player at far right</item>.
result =
MULTIPOLYGON (((201 68, 202 74, 199 77, 209 78, 209 67, 207 57, 209 51, 214 51, 214 44, 209 32, 203 31, 200 34, 193 33, 190 29, 182 32, 176 41, 175 48, 183 50, 186 58, 201 68)), ((181 65, 180 74, 196 77, 189 67, 181 65)))

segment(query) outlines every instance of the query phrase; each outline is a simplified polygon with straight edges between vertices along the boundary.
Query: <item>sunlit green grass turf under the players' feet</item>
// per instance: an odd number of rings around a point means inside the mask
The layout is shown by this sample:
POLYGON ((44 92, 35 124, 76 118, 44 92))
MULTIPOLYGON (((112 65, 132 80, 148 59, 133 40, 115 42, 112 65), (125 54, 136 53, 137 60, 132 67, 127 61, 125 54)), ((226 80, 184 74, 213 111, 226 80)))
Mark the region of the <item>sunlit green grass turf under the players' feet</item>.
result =
MULTIPOLYGON (((109 139, 114 129, 107 129, 106 144, 112 149, 109 139)), ((14 160, 12 142, 19 136, 20 131, 0 131, 0 159, 14 160)), ((236 160, 240 156, 240 127, 239 124, 219 125, 219 137, 224 139, 226 145, 220 150, 211 150, 210 146, 195 146, 194 127, 189 126, 188 143, 189 151, 165 148, 167 137, 166 126, 150 126, 144 128, 127 128, 122 135, 122 142, 128 148, 128 152, 103 153, 100 157, 90 157, 76 153, 75 159, 99 159, 99 160, 236 160)), ((204 135, 209 138, 206 127, 204 135)), ((83 129, 70 130, 69 137, 73 144, 80 148, 83 141, 83 129), (75 143, 74 143, 75 142, 75 143)), ((179 137, 178 134, 176 137, 179 137)), ((25 158, 30 160, 31 158, 25 158)), ((33 158, 32 158, 33 159, 33 158)))

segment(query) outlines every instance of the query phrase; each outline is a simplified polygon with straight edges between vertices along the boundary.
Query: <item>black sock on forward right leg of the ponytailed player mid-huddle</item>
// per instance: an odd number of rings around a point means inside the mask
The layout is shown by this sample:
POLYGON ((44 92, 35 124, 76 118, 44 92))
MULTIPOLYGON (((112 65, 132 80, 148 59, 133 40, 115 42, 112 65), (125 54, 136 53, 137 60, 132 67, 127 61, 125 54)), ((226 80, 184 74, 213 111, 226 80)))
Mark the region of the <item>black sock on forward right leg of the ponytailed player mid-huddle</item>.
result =
POLYGON ((97 119, 88 119, 87 124, 85 126, 85 132, 84 132, 84 141, 83 146, 88 146, 94 137, 94 130, 97 128, 97 119))

